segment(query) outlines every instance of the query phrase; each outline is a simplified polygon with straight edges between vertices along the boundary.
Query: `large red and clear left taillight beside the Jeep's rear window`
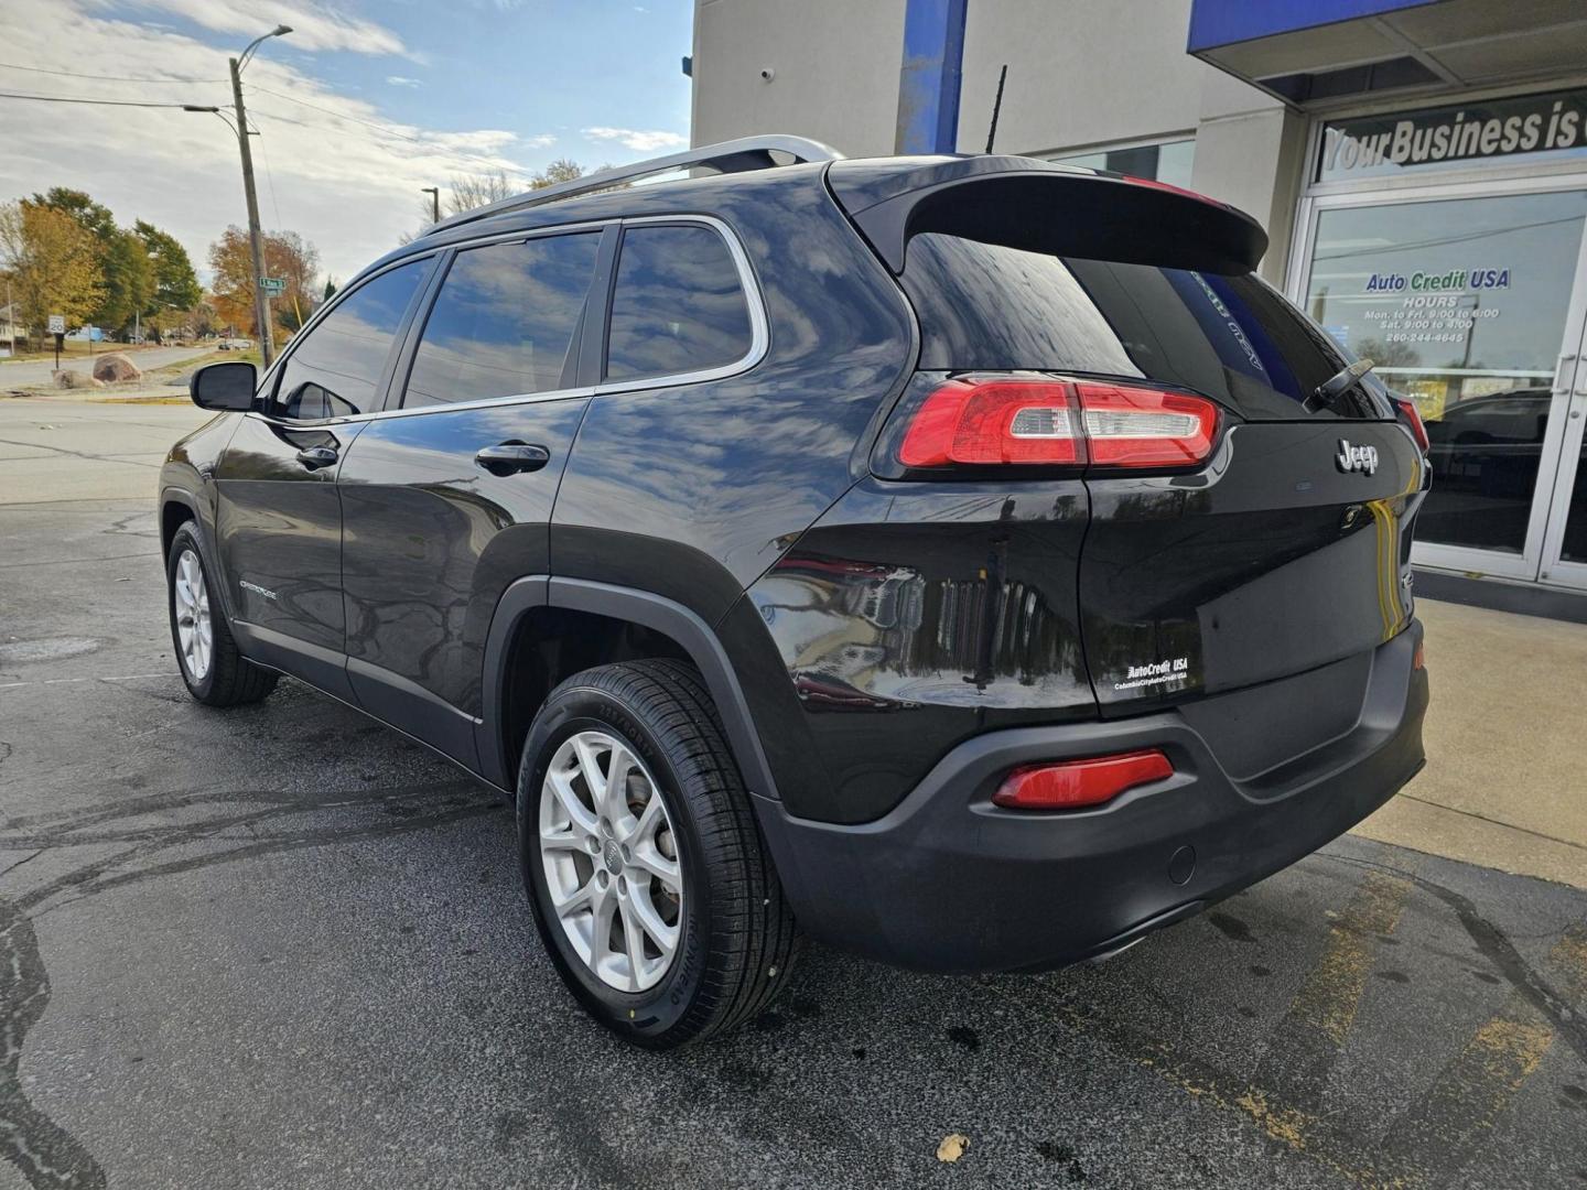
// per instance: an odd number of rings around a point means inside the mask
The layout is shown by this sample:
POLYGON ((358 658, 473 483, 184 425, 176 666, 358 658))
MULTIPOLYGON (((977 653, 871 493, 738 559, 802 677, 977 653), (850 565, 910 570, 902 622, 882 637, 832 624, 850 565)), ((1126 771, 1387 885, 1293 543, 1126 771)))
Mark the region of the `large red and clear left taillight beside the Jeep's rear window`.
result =
POLYGON ((1141 384, 962 378, 935 389, 898 447, 905 466, 1193 466, 1217 406, 1141 384))

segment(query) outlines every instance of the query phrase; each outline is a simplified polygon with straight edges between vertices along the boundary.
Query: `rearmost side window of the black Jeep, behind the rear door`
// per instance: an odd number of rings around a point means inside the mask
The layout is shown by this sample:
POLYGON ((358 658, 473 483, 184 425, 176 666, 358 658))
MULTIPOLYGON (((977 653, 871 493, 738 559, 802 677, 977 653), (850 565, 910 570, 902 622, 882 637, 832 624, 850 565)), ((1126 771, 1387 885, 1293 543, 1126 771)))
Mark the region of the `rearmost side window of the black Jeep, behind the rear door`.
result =
POLYGON ((622 233, 606 379, 676 376, 749 354, 749 300, 722 236, 698 224, 622 233))

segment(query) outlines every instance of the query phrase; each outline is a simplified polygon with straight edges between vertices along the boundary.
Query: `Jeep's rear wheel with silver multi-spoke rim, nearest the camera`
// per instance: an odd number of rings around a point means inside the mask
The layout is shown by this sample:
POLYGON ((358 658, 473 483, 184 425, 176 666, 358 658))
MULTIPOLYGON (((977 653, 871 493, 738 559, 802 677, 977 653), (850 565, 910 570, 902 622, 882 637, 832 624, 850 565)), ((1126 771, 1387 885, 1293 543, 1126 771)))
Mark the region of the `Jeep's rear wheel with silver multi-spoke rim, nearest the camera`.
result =
POLYGON ((524 744, 517 828, 557 971, 627 1041, 701 1041, 787 985, 794 917, 694 668, 605 665, 552 690, 524 744))

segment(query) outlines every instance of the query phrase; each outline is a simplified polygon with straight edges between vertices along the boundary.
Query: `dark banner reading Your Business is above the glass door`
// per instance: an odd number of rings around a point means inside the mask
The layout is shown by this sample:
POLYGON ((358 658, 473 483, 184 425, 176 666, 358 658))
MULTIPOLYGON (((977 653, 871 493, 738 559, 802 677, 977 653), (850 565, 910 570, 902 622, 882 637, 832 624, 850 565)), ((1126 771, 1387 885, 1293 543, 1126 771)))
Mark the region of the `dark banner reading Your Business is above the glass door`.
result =
POLYGON ((1587 89, 1550 90, 1330 122, 1322 130, 1316 178, 1339 182, 1503 157, 1582 154, 1587 89))

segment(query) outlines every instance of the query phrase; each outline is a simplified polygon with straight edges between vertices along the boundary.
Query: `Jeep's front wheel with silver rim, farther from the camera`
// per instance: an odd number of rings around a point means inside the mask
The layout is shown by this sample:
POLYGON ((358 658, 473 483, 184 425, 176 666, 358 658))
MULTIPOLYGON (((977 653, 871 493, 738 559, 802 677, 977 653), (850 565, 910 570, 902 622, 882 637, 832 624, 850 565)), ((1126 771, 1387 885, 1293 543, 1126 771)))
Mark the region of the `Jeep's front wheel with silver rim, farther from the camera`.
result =
POLYGON ((205 706, 240 706, 257 703, 276 689, 276 674, 236 651, 192 522, 171 538, 165 585, 171 646, 187 693, 205 706))

